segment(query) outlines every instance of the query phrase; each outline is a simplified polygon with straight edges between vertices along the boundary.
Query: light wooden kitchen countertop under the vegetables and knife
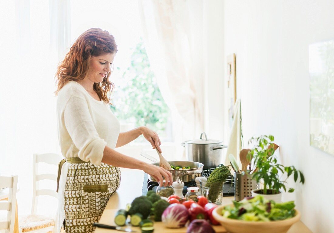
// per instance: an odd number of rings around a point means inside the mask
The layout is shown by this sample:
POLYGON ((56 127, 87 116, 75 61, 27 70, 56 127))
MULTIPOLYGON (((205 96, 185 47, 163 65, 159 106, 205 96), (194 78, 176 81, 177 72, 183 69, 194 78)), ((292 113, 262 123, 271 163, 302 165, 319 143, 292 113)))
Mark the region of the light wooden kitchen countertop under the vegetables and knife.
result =
MULTIPOLYGON (((139 170, 122 170, 121 172, 121 186, 117 190, 117 192, 112 195, 108 201, 108 204, 103 211, 103 214, 100 219, 100 223, 115 225, 114 216, 118 209, 124 209, 127 203, 131 203, 133 199, 141 196, 142 191, 142 180, 144 178, 144 172, 139 170)), ((233 197, 224 197, 223 205, 230 204, 233 200, 233 197)), ((137 232, 141 232, 139 227, 131 227, 128 226, 137 232)), ((225 228, 222 226, 213 226, 215 231, 218 232, 226 232, 225 228)), ((113 232, 121 232, 117 230, 109 230, 96 228, 95 233, 113 233, 113 232)), ((168 229, 165 228, 162 222, 154 223, 154 233, 185 233, 186 228, 178 228, 178 229, 168 229)), ((294 224, 288 233, 312 233, 301 221, 294 224)))

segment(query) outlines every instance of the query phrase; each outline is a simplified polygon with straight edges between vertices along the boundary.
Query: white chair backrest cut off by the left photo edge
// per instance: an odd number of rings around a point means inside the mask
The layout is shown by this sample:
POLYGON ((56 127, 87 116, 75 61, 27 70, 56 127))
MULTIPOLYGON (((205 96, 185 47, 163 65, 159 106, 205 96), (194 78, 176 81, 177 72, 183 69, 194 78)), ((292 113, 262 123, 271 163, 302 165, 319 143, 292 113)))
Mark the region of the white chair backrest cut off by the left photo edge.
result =
POLYGON ((0 222, 0 229, 5 232, 14 232, 15 210, 16 210, 16 190, 18 176, 0 176, 0 189, 9 188, 8 201, 0 201, 0 210, 7 210, 7 219, 0 222))

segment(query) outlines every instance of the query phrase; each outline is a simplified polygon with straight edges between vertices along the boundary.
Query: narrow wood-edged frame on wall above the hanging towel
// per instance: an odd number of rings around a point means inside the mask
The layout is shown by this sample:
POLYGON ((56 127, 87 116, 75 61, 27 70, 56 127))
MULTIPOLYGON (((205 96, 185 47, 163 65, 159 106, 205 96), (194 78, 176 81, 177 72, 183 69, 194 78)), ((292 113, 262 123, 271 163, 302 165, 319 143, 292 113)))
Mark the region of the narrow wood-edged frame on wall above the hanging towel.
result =
POLYGON ((233 122, 233 106, 236 100, 236 62, 235 53, 227 56, 227 107, 228 123, 231 128, 233 122))

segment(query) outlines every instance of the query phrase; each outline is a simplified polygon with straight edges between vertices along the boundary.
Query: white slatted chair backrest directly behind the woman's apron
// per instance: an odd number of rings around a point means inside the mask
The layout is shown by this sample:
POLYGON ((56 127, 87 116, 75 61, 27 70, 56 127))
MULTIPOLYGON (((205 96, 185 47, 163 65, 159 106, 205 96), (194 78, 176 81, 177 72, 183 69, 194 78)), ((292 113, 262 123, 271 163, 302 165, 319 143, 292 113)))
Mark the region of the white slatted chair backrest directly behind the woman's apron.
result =
POLYGON ((58 193, 51 189, 39 189, 38 181, 40 180, 53 180, 57 182, 57 174, 39 174, 38 163, 44 162, 47 164, 58 165, 62 158, 57 154, 33 154, 33 165, 32 165, 32 177, 33 177, 33 193, 32 193, 32 207, 31 214, 36 214, 38 196, 48 195, 58 198, 58 193))

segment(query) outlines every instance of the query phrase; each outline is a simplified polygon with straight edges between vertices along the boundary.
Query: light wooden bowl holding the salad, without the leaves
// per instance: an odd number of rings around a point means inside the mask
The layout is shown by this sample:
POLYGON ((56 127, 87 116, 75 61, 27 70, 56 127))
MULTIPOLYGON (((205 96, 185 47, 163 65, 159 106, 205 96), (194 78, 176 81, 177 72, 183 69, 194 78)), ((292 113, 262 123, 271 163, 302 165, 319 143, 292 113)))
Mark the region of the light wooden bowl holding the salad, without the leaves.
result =
POLYGON ((221 211, 225 206, 228 205, 216 207, 212 211, 212 215, 229 233, 286 233, 294 223, 300 220, 300 213, 298 210, 296 210, 296 215, 294 217, 278 221, 248 222, 230 219, 221 216, 221 211))

